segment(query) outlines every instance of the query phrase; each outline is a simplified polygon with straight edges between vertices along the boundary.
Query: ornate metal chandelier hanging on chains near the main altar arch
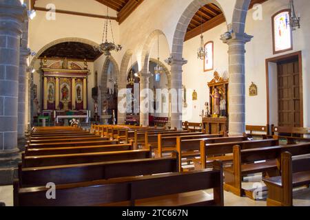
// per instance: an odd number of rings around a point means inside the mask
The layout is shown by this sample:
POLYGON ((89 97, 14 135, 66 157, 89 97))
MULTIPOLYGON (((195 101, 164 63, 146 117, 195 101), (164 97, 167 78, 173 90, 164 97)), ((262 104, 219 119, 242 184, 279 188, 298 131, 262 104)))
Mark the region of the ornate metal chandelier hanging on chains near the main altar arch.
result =
POLYGON ((107 19, 105 19, 105 24, 103 26, 103 37, 102 37, 102 43, 99 46, 94 46, 95 51, 99 51, 105 56, 111 56, 111 51, 115 50, 116 52, 122 50, 121 45, 116 45, 114 43, 114 34, 113 34, 113 29, 112 29, 112 22, 109 17, 109 7, 107 7, 107 19), (110 24, 111 28, 111 35, 112 35, 112 42, 107 41, 107 29, 108 25, 110 24))

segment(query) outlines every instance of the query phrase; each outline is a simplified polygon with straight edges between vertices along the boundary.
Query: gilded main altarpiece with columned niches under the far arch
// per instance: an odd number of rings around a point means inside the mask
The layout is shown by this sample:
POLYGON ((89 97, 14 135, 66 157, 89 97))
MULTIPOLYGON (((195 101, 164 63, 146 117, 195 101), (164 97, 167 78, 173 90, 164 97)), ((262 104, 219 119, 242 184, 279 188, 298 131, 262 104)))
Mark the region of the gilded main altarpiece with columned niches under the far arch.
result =
POLYGON ((74 62, 41 63, 43 111, 87 110, 87 62, 84 67, 74 62))

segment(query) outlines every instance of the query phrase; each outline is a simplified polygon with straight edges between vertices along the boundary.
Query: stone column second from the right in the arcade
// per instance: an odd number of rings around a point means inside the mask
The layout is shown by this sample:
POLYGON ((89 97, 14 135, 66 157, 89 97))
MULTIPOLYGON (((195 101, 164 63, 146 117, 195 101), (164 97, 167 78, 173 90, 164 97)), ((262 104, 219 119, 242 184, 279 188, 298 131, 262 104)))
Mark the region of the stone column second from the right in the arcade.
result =
POLYGON ((182 66, 187 63, 184 58, 177 60, 171 56, 165 61, 171 66, 171 127, 182 129, 182 66))

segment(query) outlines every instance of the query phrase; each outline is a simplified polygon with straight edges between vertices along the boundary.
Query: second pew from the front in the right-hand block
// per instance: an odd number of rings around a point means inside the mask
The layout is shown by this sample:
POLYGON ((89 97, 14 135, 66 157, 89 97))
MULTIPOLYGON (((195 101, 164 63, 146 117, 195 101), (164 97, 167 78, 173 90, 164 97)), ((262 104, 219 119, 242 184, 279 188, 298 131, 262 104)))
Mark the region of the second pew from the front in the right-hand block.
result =
POLYGON ((224 169, 225 184, 224 189, 233 192, 235 195, 246 195, 250 199, 255 199, 253 192, 255 189, 245 190, 242 188, 242 177, 263 173, 265 177, 280 175, 280 155, 283 151, 292 153, 310 153, 309 144, 294 144, 290 146, 265 146, 254 149, 244 149, 241 146, 234 146, 233 166, 224 169), (262 162, 265 161, 265 162, 262 162), (255 163, 260 162, 260 163, 255 163))

